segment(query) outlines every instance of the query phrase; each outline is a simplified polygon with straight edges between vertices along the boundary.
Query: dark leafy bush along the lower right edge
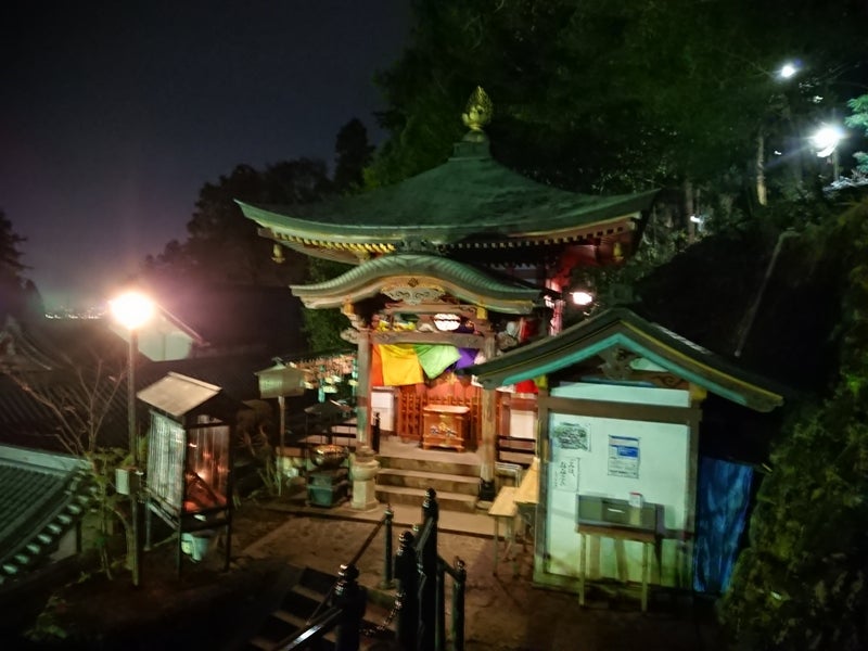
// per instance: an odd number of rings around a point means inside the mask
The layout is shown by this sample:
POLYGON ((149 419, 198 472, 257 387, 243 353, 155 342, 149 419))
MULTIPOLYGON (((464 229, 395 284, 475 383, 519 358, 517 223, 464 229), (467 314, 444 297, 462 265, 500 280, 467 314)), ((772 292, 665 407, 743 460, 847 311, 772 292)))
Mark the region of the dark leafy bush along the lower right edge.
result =
MULTIPOLYGON (((754 649, 868 646, 868 201, 819 243, 843 270, 840 373, 831 396, 792 418, 770 460, 722 602, 754 649)), ((819 237, 819 234, 818 234, 819 237)))

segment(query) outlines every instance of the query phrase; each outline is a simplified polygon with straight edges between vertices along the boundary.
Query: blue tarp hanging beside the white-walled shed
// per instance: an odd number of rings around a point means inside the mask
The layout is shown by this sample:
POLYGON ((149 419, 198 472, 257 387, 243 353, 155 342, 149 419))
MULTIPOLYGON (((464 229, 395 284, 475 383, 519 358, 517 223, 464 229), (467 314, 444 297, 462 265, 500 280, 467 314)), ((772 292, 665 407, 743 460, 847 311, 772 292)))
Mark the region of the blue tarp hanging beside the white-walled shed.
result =
POLYGON ((743 463, 702 458, 697 490, 697 544, 693 549, 693 589, 726 591, 739 552, 753 470, 743 463))

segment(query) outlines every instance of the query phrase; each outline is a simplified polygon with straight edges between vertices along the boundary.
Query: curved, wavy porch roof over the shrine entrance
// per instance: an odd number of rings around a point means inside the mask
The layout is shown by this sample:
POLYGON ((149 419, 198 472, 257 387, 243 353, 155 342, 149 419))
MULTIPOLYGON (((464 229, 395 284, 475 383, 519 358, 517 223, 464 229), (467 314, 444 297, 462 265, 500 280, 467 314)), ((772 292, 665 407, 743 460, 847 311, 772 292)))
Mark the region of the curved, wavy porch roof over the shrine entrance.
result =
POLYGON ((505 282, 478 269, 449 258, 424 254, 384 255, 332 280, 292 285, 292 293, 311 308, 341 307, 390 288, 399 292, 405 301, 412 302, 418 291, 420 301, 432 290, 506 314, 528 314, 540 298, 540 290, 505 282))

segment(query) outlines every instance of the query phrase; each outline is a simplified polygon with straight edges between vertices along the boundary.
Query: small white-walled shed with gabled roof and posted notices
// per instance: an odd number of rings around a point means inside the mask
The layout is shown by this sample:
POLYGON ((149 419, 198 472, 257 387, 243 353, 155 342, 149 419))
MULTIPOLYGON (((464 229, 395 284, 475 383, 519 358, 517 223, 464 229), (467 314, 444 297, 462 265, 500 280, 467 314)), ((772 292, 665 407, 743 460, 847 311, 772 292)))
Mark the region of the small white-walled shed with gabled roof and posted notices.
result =
POLYGON ((781 388, 626 308, 464 372, 486 391, 540 386, 534 580, 580 592, 586 576, 689 589, 707 393, 756 411, 783 403, 781 388))

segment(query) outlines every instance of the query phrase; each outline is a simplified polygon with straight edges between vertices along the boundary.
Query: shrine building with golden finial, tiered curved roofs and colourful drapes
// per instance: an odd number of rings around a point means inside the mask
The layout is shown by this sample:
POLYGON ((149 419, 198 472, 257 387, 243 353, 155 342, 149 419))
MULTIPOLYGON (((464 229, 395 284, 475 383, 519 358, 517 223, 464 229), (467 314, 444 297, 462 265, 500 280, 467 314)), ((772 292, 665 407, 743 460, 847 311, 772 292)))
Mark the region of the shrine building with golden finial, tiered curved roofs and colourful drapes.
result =
MULTIPOLYGON (((501 392, 455 371, 557 334, 573 269, 626 259, 656 193, 587 195, 516 174, 490 155, 490 115, 477 88, 451 157, 393 186, 298 206, 239 202, 276 258, 288 247, 353 265, 291 290, 308 308, 340 308, 352 326, 359 443, 387 388, 393 434, 423 450, 476 450, 486 499, 501 392)), ((532 381, 514 388, 533 401, 532 381)), ((527 429, 535 438, 529 420, 527 429)))

